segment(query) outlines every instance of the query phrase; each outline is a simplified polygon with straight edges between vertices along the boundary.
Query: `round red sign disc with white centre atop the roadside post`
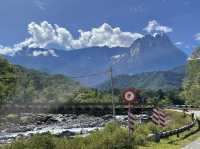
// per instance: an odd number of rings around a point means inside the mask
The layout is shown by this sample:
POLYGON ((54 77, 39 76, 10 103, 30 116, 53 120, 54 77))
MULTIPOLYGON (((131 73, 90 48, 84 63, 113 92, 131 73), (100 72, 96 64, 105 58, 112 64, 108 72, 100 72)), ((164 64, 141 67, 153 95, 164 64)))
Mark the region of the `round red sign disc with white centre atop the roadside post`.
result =
POLYGON ((136 91, 135 89, 126 89, 123 92, 123 98, 126 102, 134 102, 136 100, 136 91))

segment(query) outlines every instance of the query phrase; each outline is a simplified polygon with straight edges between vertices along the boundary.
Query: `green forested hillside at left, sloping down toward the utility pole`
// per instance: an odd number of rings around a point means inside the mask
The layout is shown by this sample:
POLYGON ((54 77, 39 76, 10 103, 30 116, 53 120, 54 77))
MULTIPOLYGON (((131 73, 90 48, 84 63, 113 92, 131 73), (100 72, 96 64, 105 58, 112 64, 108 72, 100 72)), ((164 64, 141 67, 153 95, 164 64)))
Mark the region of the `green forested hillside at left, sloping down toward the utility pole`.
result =
POLYGON ((111 102, 108 92, 81 86, 63 75, 49 75, 0 58, 1 103, 111 102))

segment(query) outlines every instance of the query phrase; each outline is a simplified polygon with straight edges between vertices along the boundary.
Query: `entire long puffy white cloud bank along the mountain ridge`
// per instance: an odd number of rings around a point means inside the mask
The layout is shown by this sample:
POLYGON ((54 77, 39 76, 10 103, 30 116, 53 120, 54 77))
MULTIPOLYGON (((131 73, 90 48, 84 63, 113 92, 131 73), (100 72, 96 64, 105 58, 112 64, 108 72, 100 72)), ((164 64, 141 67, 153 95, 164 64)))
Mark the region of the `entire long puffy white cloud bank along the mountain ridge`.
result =
MULTIPOLYGON (((139 33, 123 32, 119 27, 113 28, 107 23, 90 31, 79 30, 80 36, 74 39, 72 34, 57 24, 43 21, 40 24, 31 22, 28 25, 30 37, 13 47, 0 46, 0 54, 14 55, 17 51, 28 48, 46 48, 51 44, 63 47, 66 50, 85 47, 130 47, 133 41, 143 37, 139 33)), ((37 55, 37 54, 36 54, 37 55)))

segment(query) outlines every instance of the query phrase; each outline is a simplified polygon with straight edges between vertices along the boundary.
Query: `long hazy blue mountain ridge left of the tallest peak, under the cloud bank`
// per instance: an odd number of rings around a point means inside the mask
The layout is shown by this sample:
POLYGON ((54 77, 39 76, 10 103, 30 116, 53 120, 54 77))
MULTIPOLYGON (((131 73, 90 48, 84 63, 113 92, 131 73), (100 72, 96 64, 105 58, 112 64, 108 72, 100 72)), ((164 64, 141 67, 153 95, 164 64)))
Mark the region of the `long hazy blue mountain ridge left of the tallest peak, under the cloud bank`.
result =
MULTIPOLYGON (((14 63, 22 65, 26 68, 37 69, 51 74, 65 74, 66 76, 84 76, 88 74, 106 71, 112 65, 112 56, 120 55, 128 52, 126 48, 108 48, 108 47, 93 47, 82 50, 56 50, 56 56, 44 55, 48 49, 28 48, 16 53, 15 56, 7 56, 6 58, 14 63), (34 56, 34 53, 42 53, 34 56)), ((106 80, 108 74, 97 77, 75 77, 84 85, 96 85, 99 82, 106 80)))

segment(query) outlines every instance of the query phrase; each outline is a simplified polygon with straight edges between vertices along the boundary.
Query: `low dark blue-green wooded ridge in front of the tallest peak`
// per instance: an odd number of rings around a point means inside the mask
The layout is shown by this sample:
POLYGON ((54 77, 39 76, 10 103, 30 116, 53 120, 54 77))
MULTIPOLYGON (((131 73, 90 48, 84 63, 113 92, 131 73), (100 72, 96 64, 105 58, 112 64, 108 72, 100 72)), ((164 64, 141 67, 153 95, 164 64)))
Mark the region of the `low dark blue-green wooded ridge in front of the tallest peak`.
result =
MULTIPOLYGON (((135 75, 119 75, 114 77, 114 88, 125 89, 134 87, 145 90, 173 90, 181 87, 185 76, 185 67, 180 66, 168 71, 154 71, 135 75)), ((110 81, 102 83, 97 88, 108 90, 110 81)))

